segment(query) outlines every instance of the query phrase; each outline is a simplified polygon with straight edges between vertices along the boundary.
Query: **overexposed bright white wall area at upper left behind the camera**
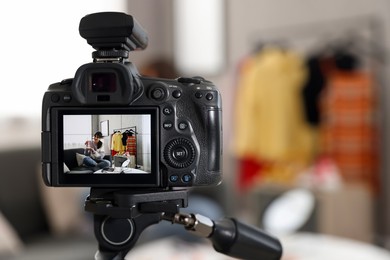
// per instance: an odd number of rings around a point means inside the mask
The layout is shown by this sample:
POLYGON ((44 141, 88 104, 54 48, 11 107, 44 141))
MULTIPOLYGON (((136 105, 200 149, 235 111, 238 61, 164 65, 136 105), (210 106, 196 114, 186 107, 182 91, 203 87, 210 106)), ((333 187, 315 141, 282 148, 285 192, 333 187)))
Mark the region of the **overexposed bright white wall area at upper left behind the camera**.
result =
POLYGON ((6 71, 2 84, 7 87, 0 96, 0 119, 39 117, 49 84, 73 77, 78 66, 91 61, 93 49, 78 32, 80 19, 93 12, 124 10, 125 6, 126 0, 1 2, 0 48, 18 54, 4 51, 2 55, 0 67, 6 71))

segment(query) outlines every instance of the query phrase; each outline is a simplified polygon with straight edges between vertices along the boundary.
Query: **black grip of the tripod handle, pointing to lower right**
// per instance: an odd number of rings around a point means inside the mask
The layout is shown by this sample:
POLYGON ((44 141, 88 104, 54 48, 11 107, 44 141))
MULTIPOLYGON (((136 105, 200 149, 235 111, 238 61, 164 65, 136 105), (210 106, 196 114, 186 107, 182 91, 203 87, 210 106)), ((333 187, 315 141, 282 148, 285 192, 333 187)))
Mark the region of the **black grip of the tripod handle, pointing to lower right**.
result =
POLYGON ((214 221, 209 239, 216 251, 241 259, 276 260, 283 251, 278 239, 236 219, 214 221))

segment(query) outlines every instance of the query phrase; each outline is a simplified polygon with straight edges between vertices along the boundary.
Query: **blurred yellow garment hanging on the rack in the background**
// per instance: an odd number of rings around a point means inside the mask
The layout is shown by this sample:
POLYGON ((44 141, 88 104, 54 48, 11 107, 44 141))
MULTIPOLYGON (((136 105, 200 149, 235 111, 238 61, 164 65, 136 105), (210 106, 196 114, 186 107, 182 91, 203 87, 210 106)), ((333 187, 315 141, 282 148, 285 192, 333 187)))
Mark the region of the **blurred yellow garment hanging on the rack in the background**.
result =
POLYGON ((241 72, 235 110, 237 156, 259 162, 307 161, 314 140, 303 113, 303 59, 285 50, 264 49, 241 72))

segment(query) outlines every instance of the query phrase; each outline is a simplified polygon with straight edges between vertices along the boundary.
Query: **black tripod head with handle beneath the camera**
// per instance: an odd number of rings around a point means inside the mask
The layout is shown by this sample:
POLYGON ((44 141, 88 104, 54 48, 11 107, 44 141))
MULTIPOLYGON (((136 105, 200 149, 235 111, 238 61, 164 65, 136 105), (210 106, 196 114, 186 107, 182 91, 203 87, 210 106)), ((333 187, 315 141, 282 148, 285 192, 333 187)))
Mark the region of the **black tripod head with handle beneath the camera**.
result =
POLYGON ((198 214, 182 214, 187 190, 111 190, 91 188, 85 210, 94 214, 99 250, 95 260, 123 260, 142 231, 162 220, 183 225, 208 238, 220 253, 241 259, 280 259, 276 238, 235 219, 213 221, 198 214))

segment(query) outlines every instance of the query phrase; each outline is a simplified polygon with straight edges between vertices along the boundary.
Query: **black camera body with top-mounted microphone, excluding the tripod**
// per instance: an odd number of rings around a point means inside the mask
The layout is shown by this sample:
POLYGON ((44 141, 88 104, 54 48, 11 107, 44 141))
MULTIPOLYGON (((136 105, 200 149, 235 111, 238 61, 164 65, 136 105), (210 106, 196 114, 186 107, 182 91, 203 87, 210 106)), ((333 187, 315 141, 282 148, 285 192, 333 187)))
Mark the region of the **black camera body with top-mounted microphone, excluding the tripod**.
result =
POLYGON ((79 32, 95 49, 93 62, 79 67, 74 78, 51 84, 43 97, 45 184, 218 185, 222 101, 214 84, 202 77, 141 76, 128 56, 145 49, 148 37, 131 15, 90 14, 81 19, 79 32), (105 156, 90 166, 85 158, 97 150, 90 148, 93 138, 105 156))

